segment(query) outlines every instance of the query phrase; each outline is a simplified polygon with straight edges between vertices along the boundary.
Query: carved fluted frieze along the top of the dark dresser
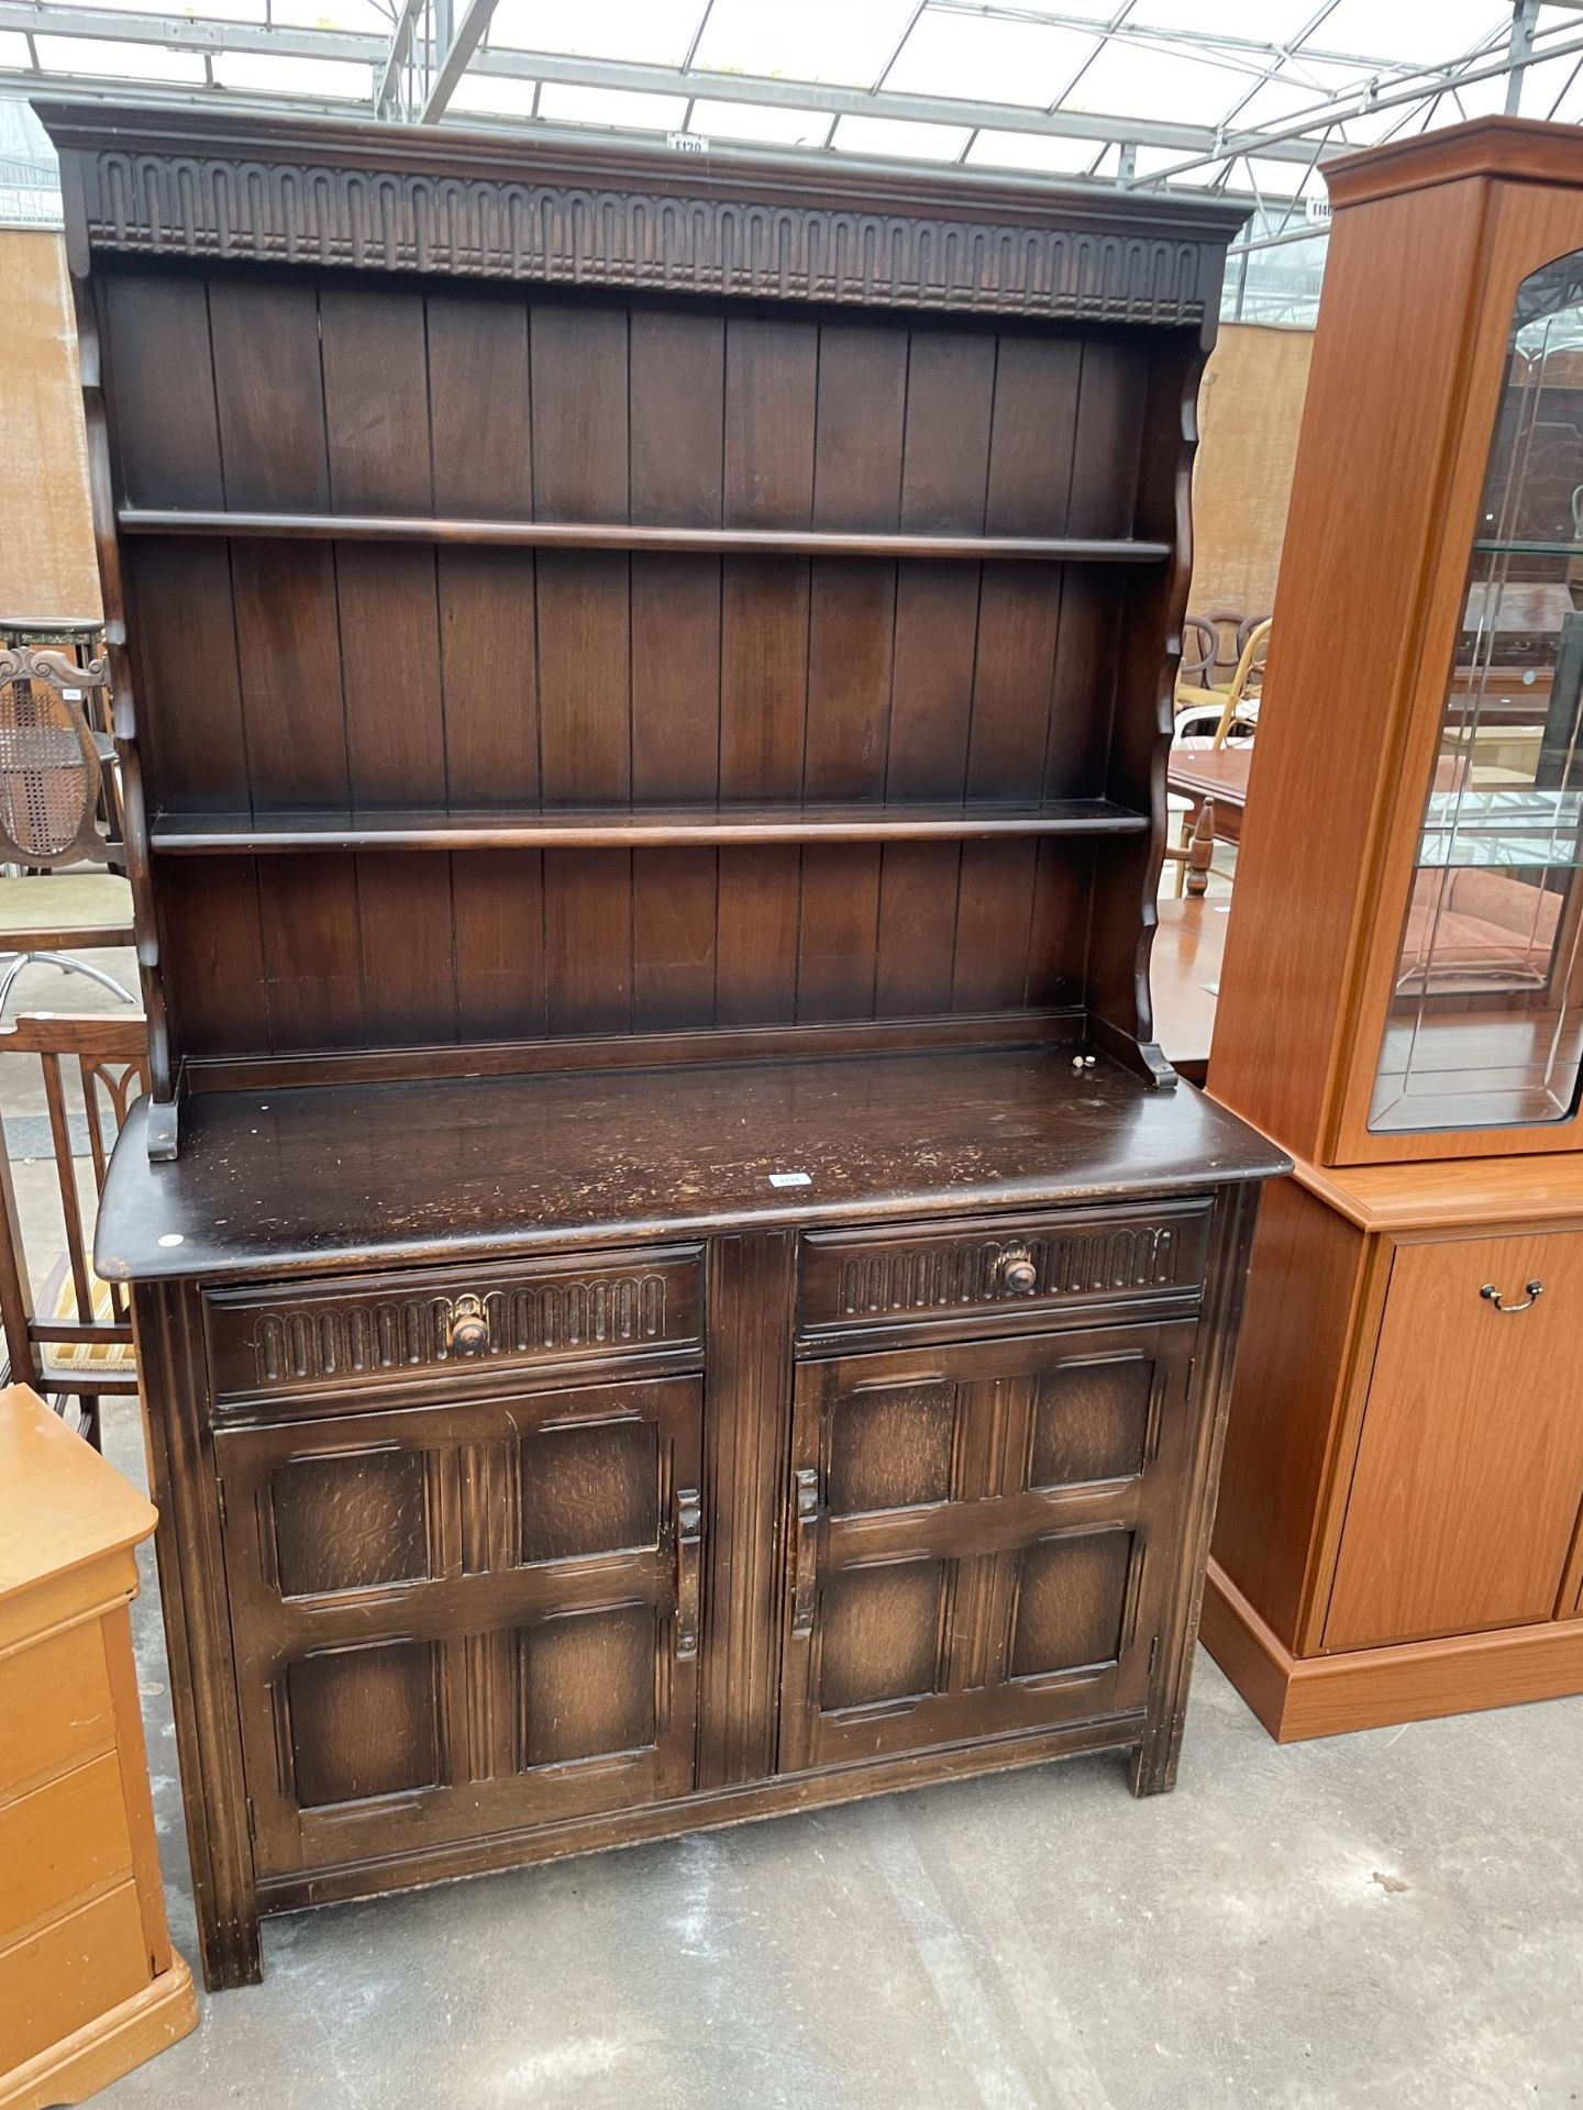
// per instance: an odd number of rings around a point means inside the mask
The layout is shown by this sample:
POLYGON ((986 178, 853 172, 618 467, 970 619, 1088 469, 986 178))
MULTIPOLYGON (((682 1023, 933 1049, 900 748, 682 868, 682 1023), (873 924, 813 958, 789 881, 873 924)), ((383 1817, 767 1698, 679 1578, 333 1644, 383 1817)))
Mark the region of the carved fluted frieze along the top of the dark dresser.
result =
POLYGON ((82 156, 93 249, 764 300, 1201 323, 1220 251, 754 196, 112 148, 82 156))

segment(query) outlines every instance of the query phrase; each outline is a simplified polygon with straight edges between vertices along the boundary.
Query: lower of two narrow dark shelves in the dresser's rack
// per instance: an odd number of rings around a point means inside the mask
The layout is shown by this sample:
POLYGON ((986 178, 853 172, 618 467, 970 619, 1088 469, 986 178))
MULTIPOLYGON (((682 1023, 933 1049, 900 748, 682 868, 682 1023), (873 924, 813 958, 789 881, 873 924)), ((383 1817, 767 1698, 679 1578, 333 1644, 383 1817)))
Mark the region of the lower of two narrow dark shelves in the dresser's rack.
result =
POLYGON ((1142 836, 1148 814, 1102 798, 1043 804, 589 806, 547 812, 188 812, 156 814, 154 850, 542 850, 701 842, 977 842, 992 836, 1142 836))

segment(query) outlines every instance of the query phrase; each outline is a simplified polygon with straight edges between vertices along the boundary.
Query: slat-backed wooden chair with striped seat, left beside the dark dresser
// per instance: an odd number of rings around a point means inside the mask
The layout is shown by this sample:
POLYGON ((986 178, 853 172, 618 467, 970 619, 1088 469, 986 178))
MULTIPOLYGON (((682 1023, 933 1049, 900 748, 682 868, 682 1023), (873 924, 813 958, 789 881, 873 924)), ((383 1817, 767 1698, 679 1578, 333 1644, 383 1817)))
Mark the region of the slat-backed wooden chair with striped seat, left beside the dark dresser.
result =
POLYGON ((127 1296, 118 1283, 99 1281, 89 1260, 65 1066, 74 1061, 78 1070, 97 1205, 110 1163, 106 1114, 112 1129, 120 1131, 131 1101, 148 1089, 144 1017, 21 1017, 0 1028, 0 1055, 4 1053, 40 1059, 65 1230, 63 1251, 34 1296, 11 1139, 0 1120, 0 1327, 8 1359, 6 1382, 32 1384, 59 1414, 76 1405, 82 1435, 97 1450, 99 1401, 108 1395, 135 1395, 137 1363, 127 1296))

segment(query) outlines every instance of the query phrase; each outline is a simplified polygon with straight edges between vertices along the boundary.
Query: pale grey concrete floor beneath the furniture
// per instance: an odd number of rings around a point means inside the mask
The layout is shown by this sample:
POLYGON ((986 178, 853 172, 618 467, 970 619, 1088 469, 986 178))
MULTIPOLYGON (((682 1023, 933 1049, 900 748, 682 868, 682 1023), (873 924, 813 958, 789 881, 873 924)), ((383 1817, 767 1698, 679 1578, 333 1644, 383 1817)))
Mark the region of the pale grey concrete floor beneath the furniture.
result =
MULTIPOLYGON (((46 971, 25 998, 99 1009, 46 971)), ((42 1112, 34 1091, 0 1057, 8 1120, 42 1112)), ((46 1165, 19 1175, 25 1213, 51 1182, 46 1165)), ((108 1407, 106 1447, 141 1481, 127 1403, 108 1407)), ((150 1557, 144 1576, 154 1802, 192 1958, 150 1557)), ((1201 1654, 1174 1796, 1133 1802, 1123 1764, 1089 1758, 270 1920, 264 1986, 205 2000, 192 2038, 97 2102, 1579 2104, 1581 1819, 1583 1701, 1281 1751, 1201 1654)))

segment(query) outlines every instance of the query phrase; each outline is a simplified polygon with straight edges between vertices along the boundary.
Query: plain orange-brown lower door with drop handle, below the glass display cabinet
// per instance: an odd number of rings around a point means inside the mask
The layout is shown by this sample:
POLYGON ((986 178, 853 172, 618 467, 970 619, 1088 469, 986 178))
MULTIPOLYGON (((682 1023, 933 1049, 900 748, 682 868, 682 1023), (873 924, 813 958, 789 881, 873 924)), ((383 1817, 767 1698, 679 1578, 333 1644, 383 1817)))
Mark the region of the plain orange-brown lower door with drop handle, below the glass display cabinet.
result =
POLYGON ((1583 1498, 1579 1325, 1581 1232, 1397 1247, 1325 1648, 1556 1616, 1583 1498))

